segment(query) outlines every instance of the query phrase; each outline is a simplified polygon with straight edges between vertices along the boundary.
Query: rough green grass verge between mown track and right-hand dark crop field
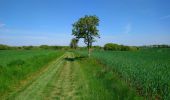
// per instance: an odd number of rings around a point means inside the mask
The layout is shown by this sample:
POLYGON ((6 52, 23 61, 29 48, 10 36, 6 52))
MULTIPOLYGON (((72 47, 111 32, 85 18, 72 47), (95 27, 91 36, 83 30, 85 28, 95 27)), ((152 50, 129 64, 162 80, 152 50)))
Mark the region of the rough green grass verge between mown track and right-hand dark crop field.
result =
POLYGON ((84 73, 88 92, 85 100, 142 100, 133 88, 130 88, 117 73, 94 58, 79 55, 81 71, 84 73))

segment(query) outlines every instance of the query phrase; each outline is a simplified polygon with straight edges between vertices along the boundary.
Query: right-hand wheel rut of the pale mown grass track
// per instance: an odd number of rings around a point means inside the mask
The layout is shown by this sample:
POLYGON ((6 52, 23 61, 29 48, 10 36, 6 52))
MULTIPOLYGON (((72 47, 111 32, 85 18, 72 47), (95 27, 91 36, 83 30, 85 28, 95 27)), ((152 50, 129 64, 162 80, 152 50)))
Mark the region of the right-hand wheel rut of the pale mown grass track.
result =
MULTIPOLYGON (((73 54, 68 55, 69 59, 74 58, 73 54)), ((50 82, 46 91, 50 93, 45 97, 48 100, 60 99, 60 100, 75 100, 80 99, 81 90, 85 84, 81 82, 82 73, 76 61, 64 62, 64 66, 58 70, 54 80, 50 82)))

